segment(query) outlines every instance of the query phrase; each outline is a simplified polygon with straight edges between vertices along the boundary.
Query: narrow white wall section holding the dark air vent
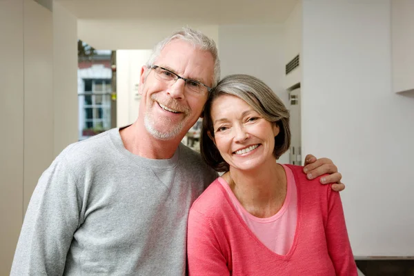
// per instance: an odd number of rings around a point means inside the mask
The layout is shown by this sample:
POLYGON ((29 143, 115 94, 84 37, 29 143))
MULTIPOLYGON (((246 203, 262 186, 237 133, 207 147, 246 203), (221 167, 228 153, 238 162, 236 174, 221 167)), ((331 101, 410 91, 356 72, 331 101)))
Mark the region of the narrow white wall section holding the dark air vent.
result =
POLYGON ((302 1, 297 1, 295 8, 284 23, 283 40, 285 66, 299 55, 299 67, 284 77, 284 88, 287 89, 302 81, 302 1))

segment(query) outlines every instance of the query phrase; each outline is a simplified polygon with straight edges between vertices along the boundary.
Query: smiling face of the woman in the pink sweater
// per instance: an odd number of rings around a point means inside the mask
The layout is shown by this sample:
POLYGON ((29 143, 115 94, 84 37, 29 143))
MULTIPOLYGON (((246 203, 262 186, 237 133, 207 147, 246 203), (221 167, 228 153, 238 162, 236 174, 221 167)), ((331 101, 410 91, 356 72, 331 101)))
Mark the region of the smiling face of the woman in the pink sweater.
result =
POLYGON ((273 149, 279 127, 264 119, 246 101, 220 95, 213 101, 210 114, 212 139, 230 167, 253 170, 266 161, 276 161, 273 149))

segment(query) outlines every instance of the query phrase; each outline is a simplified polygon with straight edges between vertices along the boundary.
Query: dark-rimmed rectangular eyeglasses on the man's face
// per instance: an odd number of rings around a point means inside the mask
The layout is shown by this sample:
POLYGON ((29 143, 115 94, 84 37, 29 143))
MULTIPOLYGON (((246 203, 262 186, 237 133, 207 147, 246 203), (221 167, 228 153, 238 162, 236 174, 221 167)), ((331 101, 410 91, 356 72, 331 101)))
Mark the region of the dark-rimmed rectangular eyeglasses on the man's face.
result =
POLYGON ((166 68, 155 65, 151 66, 151 69, 154 69, 155 78, 157 78, 159 81, 164 81, 169 85, 172 85, 172 83, 175 83, 175 81, 179 79, 184 80, 186 82, 186 88, 195 94, 202 95, 207 91, 211 92, 211 90, 213 90, 213 88, 206 86, 204 83, 195 81, 194 79, 186 79, 184 77, 180 77, 179 75, 175 74, 175 72, 171 72, 166 68))

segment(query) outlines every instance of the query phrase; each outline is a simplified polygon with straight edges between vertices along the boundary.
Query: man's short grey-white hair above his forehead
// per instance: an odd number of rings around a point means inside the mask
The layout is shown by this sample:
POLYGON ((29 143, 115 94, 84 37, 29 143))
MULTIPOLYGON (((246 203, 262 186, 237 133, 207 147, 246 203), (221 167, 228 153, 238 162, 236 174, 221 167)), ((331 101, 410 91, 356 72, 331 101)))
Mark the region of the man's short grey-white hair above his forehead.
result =
POLYGON ((210 37, 207 37, 206 34, 203 34, 199 30, 193 30, 186 27, 182 30, 179 30, 178 32, 172 33, 169 37, 157 43, 157 45, 152 50, 152 54, 148 59, 146 66, 148 68, 154 66, 155 60, 159 57, 161 50, 164 49, 168 43, 175 39, 187 41, 188 43, 193 44, 193 46, 199 50, 210 52, 214 59, 214 75, 212 79, 213 87, 217 86, 217 83, 220 79, 220 59, 217 52, 217 46, 213 39, 210 39, 210 37))

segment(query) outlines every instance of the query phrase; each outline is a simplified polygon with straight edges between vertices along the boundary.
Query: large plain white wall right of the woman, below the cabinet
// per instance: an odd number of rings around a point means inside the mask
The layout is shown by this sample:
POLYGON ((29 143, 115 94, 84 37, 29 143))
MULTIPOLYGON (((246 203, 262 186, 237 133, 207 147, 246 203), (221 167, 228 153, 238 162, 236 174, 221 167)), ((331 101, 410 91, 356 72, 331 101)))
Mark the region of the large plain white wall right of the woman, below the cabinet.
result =
POLYGON ((344 175, 355 255, 413 256, 414 97, 391 92, 391 3, 303 6, 304 152, 344 175))

